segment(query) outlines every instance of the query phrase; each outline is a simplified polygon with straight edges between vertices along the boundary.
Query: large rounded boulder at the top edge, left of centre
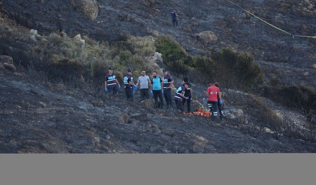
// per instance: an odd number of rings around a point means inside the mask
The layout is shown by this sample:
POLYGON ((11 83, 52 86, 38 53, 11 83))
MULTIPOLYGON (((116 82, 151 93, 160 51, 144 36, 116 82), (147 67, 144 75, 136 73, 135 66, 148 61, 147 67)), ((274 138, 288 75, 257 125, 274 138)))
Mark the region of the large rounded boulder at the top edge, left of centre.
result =
POLYGON ((99 6, 96 0, 69 0, 79 12, 90 20, 95 20, 98 16, 99 6))

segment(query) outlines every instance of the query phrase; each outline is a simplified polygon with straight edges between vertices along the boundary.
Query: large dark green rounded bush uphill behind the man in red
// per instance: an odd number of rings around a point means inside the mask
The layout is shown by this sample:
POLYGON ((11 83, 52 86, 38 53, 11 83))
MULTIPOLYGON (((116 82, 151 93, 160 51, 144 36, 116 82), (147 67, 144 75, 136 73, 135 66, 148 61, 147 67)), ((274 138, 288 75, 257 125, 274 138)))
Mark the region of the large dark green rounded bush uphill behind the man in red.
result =
POLYGON ((213 52, 209 56, 196 57, 195 66, 207 79, 221 81, 226 87, 247 90, 263 79, 260 65, 253 60, 249 53, 238 54, 224 48, 221 52, 213 52))

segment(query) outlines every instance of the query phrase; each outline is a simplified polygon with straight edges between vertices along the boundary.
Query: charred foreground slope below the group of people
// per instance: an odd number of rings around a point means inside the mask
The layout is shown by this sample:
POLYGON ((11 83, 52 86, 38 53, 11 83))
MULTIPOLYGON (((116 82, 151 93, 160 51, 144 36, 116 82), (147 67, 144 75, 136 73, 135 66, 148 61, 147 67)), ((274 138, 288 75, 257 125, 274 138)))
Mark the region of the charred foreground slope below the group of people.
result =
POLYGON ((122 90, 116 98, 96 99, 6 70, 0 81, 0 153, 316 152, 315 143, 249 134, 236 119, 217 122, 128 104, 122 90))

